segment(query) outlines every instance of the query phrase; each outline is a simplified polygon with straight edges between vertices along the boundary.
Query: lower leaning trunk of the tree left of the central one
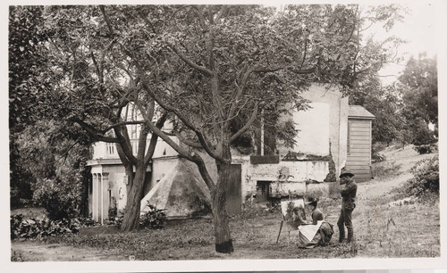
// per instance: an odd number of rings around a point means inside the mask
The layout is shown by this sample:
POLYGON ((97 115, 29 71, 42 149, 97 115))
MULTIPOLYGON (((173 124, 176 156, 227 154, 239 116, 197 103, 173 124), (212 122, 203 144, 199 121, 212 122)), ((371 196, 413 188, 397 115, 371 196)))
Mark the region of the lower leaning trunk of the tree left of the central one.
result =
POLYGON ((135 177, 131 186, 131 192, 127 194, 126 209, 122 219, 122 231, 139 229, 140 203, 143 198, 144 181, 148 166, 139 164, 136 166, 135 177))

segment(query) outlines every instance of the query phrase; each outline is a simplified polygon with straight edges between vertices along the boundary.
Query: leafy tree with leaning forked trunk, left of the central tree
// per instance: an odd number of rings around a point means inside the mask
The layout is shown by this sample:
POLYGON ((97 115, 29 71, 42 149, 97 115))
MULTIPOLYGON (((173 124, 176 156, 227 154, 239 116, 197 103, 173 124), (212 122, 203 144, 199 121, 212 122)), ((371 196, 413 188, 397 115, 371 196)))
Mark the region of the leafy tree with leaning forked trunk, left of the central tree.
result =
MULTIPOLYGON (((99 23, 98 18, 104 18, 100 7, 48 6, 44 15, 49 38, 38 50, 46 55, 42 66, 52 84, 38 96, 46 105, 42 113, 60 121, 60 126, 83 130, 77 140, 81 145, 116 144, 129 179, 122 230, 138 229, 145 176, 157 142, 156 135, 148 142, 148 123, 163 128, 168 114, 141 92, 123 51, 111 50, 122 43, 114 40, 105 21, 99 23), (130 136, 130 125, 139 125, 139 136, 130 136), (138 139, 137 151, 131 137, 138 139)), ((130 45, 126 50, 134 51, 139 37, 133 36, 131 26, 122 34, 130 45)))

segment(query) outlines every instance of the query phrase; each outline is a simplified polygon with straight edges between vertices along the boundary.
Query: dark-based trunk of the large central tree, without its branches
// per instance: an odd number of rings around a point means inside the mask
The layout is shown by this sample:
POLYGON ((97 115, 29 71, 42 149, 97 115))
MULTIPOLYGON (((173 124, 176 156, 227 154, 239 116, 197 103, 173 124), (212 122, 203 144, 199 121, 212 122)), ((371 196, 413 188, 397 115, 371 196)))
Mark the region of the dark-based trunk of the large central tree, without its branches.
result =
POLYGON ((230 165, 232 161, 230 145, 223 145, 224 161, 217 161, 217 185, 215 193, 212 193, 213 219, 215 225, 215 251, 222 253, 231 253, 232 236, 226 210, 226 187, 228 178, 230 178, 230 165))

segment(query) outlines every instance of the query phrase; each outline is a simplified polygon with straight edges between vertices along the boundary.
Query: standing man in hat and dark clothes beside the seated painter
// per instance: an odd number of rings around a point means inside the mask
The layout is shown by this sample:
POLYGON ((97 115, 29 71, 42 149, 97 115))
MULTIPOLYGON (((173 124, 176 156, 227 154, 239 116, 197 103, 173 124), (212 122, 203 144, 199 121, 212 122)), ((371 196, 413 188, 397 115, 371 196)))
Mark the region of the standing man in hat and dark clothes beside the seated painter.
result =
POLYGON ((354 238, 354 227, 352 227, 352 211, 356 207, 355 198, 357 194, 357 184, 352 178, 354 174, 350 170, 342 170, 340 174, 340 185, 345 185, 340 191, 342 194, 342 211, 337 221, 337 226, 340 231, 339 242, 344 240, 344 226, 348 229, 348 243, 354 238))

